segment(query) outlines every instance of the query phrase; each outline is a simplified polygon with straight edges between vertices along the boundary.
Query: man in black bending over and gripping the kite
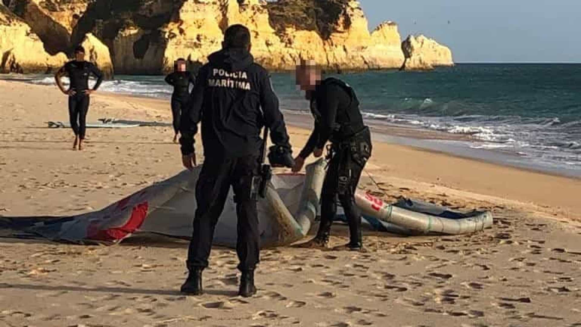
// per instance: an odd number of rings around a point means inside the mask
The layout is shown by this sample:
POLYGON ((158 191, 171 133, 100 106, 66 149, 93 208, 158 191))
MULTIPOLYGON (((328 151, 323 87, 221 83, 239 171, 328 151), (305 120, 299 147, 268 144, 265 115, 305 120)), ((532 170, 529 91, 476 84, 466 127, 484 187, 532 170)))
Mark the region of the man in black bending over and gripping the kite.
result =
POLYGON ((321 157, 327 141, 329 165, 321 192, 321 223, 317 236, 303 246, 327 247, 331 224, 336 215, 337 198, 349 223, 349 250, 363 251, 361 212, 354 194, 361 172, 371 157, 371 134, 363 124, 359 101, 353 88, 344 81, 327 78, 311 62, 302 61, 296 71, 297 84, 310 100, 315 127, 309 141, 297 158, 293 172, 303 168, 311 153, 321 157))

